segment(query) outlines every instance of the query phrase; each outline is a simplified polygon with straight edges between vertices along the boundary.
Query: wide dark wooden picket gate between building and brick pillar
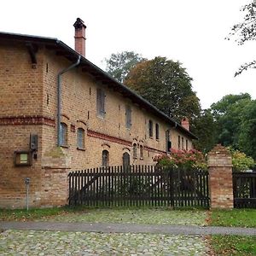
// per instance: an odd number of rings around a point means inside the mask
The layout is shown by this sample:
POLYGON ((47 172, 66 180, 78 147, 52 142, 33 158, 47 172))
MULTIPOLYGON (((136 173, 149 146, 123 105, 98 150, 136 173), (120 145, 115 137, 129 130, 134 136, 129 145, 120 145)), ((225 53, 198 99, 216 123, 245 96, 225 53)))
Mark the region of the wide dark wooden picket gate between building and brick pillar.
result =
POLYGON ((68 176, 69 205, 209 207, 207 171, 108 166, 68 176))

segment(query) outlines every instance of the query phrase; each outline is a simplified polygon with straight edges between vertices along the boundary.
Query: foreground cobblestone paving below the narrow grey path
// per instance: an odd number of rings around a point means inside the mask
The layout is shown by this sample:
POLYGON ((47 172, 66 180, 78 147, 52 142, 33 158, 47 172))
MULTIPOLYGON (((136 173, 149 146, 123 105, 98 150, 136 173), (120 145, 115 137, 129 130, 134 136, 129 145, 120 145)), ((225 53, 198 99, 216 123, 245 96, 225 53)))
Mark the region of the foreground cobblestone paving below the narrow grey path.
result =
POLYGON ((201 236, 6 230, 0 255, 207 255, 201 236))

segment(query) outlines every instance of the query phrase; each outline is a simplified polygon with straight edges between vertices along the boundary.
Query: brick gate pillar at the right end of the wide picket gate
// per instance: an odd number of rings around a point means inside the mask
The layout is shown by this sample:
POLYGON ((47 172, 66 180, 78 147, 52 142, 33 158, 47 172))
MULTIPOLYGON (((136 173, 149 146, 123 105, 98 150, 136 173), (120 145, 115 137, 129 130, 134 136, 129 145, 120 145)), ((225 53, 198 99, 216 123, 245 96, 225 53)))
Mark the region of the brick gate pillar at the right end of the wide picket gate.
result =
POLYGON ((233 208, 232 158, 220 144, 207 157, 211 208, 233 208))

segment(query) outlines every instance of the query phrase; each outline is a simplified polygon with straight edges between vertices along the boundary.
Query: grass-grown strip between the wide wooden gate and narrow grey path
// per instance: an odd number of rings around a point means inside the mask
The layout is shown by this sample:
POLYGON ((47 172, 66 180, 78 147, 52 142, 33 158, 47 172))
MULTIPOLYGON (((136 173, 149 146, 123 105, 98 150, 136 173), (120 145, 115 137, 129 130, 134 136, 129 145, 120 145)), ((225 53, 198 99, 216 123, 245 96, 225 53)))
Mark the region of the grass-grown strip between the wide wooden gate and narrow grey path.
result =
POLYGON ((84 223, 195 224, 205 225, 207 212, 169 208, 49 208, 0 210, 2 220, 39 220, 84 223))

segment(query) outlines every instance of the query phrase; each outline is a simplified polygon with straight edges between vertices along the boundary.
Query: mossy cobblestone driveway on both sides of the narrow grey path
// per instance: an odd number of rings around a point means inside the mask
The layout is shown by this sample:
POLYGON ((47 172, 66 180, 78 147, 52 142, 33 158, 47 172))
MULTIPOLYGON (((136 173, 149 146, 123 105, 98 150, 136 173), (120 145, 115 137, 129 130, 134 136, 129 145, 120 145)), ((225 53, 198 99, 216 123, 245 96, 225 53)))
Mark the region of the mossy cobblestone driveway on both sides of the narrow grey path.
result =
MULTIPOLYGON (((87 209, 38 221, 204 225, 207 212, 162 209, 87 209)), ((6 230, 0 255, 206 255, 203 236, 6 230)))

